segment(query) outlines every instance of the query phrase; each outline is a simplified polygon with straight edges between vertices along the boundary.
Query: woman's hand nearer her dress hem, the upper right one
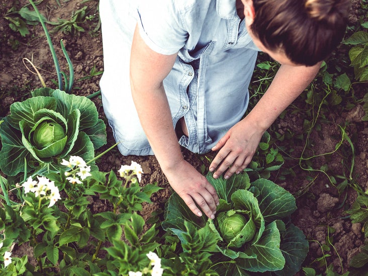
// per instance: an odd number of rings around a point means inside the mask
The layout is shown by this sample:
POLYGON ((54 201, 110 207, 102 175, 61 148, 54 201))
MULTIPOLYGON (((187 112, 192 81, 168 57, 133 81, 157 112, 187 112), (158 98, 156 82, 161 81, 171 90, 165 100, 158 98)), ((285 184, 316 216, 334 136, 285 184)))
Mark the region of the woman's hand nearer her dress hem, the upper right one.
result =
POLYGON ((218 178, 226 171, 224 178, 227 179, 234 173, 240 173, 252 160, 252 157, 262 138, 264 130, 254 126, 244 118, 233 126, 224 137, 212 148, 220 150, 210 165, 213 177, 218 178))

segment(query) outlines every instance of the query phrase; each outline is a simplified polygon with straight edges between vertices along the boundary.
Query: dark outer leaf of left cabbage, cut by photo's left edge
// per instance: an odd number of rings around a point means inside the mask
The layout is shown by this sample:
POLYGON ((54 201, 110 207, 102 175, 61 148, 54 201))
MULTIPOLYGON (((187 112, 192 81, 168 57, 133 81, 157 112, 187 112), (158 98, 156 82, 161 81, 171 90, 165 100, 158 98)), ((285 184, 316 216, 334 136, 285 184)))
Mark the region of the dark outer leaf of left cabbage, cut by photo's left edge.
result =
POLYGON ((0 125, 0 136, 3 144, 0 150, 0 169, 6 175, 17 175, 24 171, 24 160, 28 160, 31 153, 24 146, 22 133, 10 126, 8 119, 0 125))

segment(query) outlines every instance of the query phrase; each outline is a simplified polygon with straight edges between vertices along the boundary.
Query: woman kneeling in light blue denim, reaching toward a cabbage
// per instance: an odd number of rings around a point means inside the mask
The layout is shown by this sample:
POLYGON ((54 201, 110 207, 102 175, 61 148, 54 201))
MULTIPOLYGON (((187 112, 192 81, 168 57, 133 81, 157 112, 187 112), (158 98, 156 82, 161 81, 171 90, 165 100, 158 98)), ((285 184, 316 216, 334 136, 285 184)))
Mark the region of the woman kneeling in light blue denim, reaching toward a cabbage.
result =
POLYGON ((348 8, 348 0, 101 1, 100 85, 120 152, 155 154, 189 208, 214 218, 216 191, 180 145, 218 151, 215 178, 240 173, 341 41, 348 8), (244 117, 258 51, 281 67, 244 117))

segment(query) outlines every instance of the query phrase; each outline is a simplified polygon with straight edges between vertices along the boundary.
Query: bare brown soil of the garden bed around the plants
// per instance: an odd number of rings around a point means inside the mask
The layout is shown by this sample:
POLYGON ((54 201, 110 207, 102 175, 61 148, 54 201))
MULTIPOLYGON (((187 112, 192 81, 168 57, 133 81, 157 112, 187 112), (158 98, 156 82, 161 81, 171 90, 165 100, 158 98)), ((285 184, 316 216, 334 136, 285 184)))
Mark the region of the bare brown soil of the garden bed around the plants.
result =
MULTIPOLYGON (((69 0, 60 2, 62 2, 61 7, 57 5, 56 1, 52 0, 43 1, 39 5, 39 9, 47 20, 57 22, 58 18, 70 19, 73 12, 84 6, 88 7, 86 13, 90 19, 77 23, 85 29, 84 32, 74 34, 65 34, 60 31, 51 32, 51 37, 62 69, 68 70, 59 46, 60 39, 63 39, 74 65, 73 93, 82 96, 93 94, 99 90, 101 74, 98 74, 98 72, 104 69, 102 38, 98 25, 98 1, 69 0)), ((357 3, 358 1, 354 2, 354 4, 357 3)), ((41 26, 39 24, 34 27, 28 26, 30 34, 25 37, 10 29, 10 22, 5 19, 5 15, 14 4, 15 1, 5 0, 0 6, 0 14, 2 15, 0 17, 0 117, 4 117, 9 113, 12 103, 29 98, 30 91, 41 86, 37 75, 27 70, 22 62, 23 58, 32 60, 40 69, 47 86, 56 88, 56 84, 53 82, 56 79, 54 64, 41 26)), ((28 4, 28 1, 21 0, 16 7, 21 8, 26 4, 28 4)), ((32 10, 31 7, 30 9, 32 10)), ((14 16, 16 15, 9 15, 9 17, 14 16)), ((351 22, 354 22, 354 17, 353 13, 350 18, 351 22)), ((48 25, 49 30, 52 27, 48 25)), ((29 64, 27 66, 30 67, 29 64)), ((364 95, 362 87, 358 86, 355 90, 357 99, 362 99, 364 95)), ((100 118, 106 121, 101 99, 95 97, 93 101, 98 108, 100 118)), ((274 123, 272 127, 274 131, 280 134, 293 133, 293 137, 305 135, 303 130, 305 118, 303 114, 292 112, 296 110, 295 107, 301 109, 305 107, 305 99, 298 98, 293 103, 293 109, 288 109, 285 117, 283 119, 279 118, 274 123)), ((362 105, 359 104, 342 113, 339 112, 339 109, 334 110, 332 108, 324 114, 325 119, 320 123, 320 130, 311 132, 310 141, 313 144, 314 155, 331 152, 341 139, 337 124, 343 126, 345 122, 349 122, 346 133, 353 141, 355 149, 353 179, 349 179, 349 183, 355 183, 365 191, 368 189, 368 163, 366 162, 368 155, 368 123, 362 121, 363 115, 362 105)), ((108 144, 104 149, 115 143, 109 127, 107 131, 108 144)), ((282 148, 290 147, 291 143, 294 143, 292 156, 290 158, 285 156, 286 162, 283 165, 284 170, 292 170, 294 173, 287 174, 285 179, 280 180, 279 174, 274 172, 270 179, 297 197, 298 210, 293 214, 292 222, 302 229, 310 241, 310 251, 303 266, 313 267, 317 272, 322 273, 326 269, 326 262, 327 265, 333 264, 334 271, 345 272, 348 269, 349 260, 358 252, 364 238, 362 226, 352 224, 350 219, 346 217, 346 213, 344 213, 354 202, 356 192, 353 189, 346 188, 343 193, 339 193, 323 172, 302 169, 297 158, 300 157, 303 150, 303 143, 297 138, 293 139, 284 140, 284 142, 278 141, 277 145, 282 148), (328 237, 334 248, 330 246, 330 251, 322 251, 320 245, 325 244, 328 237), (321 259, 324 254, 330 254, 331 256, 327 256, 325 260, 321 259)), ((349 149, 349 145, 344 142, 343 148, 349 149)), ((185 158, 195 165, 198 170, 201 171, 205 168, 207 171, 209 163, 206 158, 201 158, 201 156, 186 149, 182 149, 182 152, 185 158)), ((208 155, 209 158, 211 156, 214 156, 214 154, 208 155)), ((350 155, 346 155, 345 151, 339 150, 333 154, 314 158, 312 160, 313 167, 320 168, 327 164, 329 172, 342 175, 342 171, 346 171, 344 165, 351 161, 351 156, 353 156, 351 152, 350 155)), ((159 212, 164 209, 164 204, 171 193, 168 182, 155 157, 122 156, 116 149, 113 149, 98 161, 98 166, 101 171, 116 171, 122 164, 130 164, 131 160, 138 162, 143 168, 142 185, 157 182, 160 187, 164 188, 153 195, 152 205, 145 206, 142 214, 148 219, 153 211, 159 212)), ((341 181, 341 179, 337 179, 337 184, 341 181)), ((94 212, 101 212, 106 208, 108 207, 103 202, 94 202, 91 205, 94 212)), ((20 250, 23 249, 14 248, 14 256, 21 256, 23 252, 20 252, 20 250)))

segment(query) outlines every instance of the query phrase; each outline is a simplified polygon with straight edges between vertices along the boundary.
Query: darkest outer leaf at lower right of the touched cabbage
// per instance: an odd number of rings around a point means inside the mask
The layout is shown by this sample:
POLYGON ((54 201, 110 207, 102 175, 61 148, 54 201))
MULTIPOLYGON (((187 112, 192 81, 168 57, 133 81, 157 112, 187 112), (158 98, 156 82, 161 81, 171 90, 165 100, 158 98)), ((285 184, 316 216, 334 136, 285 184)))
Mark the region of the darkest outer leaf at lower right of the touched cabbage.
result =
POLYGON ((308 254, 309 244, 305 235, 298 227, 290 224, 286 231, 282 232, 280 249, 286 263, 282 270, 275 273, 279 276, 295 275, 308 254))

